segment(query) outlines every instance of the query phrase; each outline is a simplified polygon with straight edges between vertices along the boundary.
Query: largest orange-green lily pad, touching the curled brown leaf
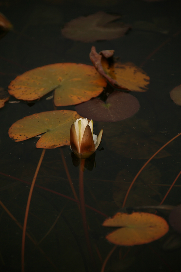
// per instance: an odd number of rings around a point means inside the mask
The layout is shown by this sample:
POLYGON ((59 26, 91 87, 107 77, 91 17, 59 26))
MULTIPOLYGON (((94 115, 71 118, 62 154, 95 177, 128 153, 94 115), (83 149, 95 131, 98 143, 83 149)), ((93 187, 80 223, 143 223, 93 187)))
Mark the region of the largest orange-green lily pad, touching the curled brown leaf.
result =
POLYGON ((81 63, 55 63, 17 76, 11 81, 8 92, 17 99, 32 101, 55 89, 55 105, 67 106, 98 96, 105 86, 105 79, 94 66, 81 63))

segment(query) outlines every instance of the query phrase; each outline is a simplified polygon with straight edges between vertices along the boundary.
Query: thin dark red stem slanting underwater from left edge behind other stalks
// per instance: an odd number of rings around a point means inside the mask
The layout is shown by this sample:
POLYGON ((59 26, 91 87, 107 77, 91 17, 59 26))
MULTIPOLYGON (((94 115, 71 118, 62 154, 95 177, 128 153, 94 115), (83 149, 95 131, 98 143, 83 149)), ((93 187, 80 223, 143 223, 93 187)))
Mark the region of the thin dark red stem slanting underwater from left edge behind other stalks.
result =
MULTIPOLYGON (((31 185, 30 182, 25 181, 25 180, 18 179, 18 178, 14 177, 14 176, 10 176, 10 175, 7 175, 7 174, 2 173, 2 172, 0 172, 0 174, 3 175, 3 176, 7 176, 7 177, 9 177, 9 178, 11 178, 11 179, 19 180, 19 181, 21 181, 21 182, 23 182, 23 183, 26 183, 26 184, 28 184, 28 185, 31 185)), ((74 199, 74 198, 72 198, 72 197, 70 197, 70 196, 63 195, 63 194, 61 194, 61 193, 58 193, 58 192, 56 192, 56 191, 54 191, 54 190, 48 189, 48 188, 43 187, 43 186, 40 186, 40 185, 36 185, 36 184, 35 184, 34 186, 37 187, 37 188, 43 189, 43 190, 45 190, 45 191, 48 191, 48 192, 50 192, 50 193, 56 194, 56 195, 58 195, 58 196, 65 197, 65 198, 67 198, 67 199, 70 199, 71 201, 74 201, 74 202, 80 204, 80 202, 79 202, 78 200, 76 200, 76 199, 74 199)), ((86 206, 88 209, 91 209, 91 210, 93 210, 94 212, 97 212, 97 213, 99 213, 100 215, 103 215, 104 217, 108 217, 108 215, 106 215, 105 213, 100 212, 99 210, 94 209, 93 207, 91 207, 91 206, 89 206, 89 205, 87 205, 87 204, 85 204, 85 206, 86 206)))

